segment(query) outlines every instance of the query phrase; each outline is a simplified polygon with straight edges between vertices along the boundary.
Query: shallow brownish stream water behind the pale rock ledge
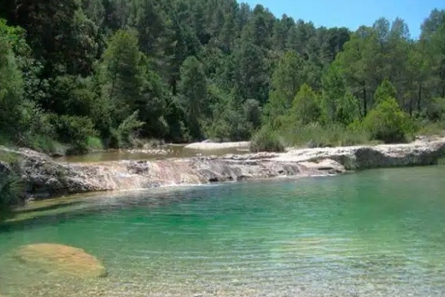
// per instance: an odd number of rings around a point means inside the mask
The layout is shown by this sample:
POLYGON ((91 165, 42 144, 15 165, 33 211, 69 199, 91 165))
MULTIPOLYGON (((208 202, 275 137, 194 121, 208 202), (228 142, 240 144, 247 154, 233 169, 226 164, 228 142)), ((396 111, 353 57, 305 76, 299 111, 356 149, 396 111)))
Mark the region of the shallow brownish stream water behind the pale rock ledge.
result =
POLYGON ((226 154, 242 155, 247 149, 224 148, 220 150, 192 150, 184 145, 164 145, 151 150, 107 150, 81 156, 65 156, 55 158, 56 161, 70 163, 93 163, 120 160, 153 160, 167 158, 190 158, 196 156, 223 156, 226 154))

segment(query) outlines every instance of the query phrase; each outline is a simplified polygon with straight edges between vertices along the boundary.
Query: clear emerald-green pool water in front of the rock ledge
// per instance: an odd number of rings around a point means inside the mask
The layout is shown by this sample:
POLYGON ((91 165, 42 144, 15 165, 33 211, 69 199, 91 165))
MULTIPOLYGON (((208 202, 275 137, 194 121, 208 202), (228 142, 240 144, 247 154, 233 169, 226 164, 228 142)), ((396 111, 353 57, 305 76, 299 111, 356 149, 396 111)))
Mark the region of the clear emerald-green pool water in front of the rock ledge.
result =
POLYGON ((443 296, 445 167, 226 184, 81 200, 4 226, 15 296, 443 296), (104 279, 23 266, 18 246, 72 245, 104 279))

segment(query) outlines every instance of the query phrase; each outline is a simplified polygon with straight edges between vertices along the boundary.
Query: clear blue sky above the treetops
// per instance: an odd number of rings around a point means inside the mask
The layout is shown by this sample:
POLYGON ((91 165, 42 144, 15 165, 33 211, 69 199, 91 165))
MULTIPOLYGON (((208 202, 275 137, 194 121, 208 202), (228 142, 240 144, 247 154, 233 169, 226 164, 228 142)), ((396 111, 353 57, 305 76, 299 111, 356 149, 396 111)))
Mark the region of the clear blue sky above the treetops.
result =
POLYGON ((420 35, 420 25, 432 9, 445 9, 445 0, 244 0, 250 6, 261 4, 281 16, 312 21, 317 27, 370 26, 379 17, 400 17, 408 24, 411 37, 420 35))

